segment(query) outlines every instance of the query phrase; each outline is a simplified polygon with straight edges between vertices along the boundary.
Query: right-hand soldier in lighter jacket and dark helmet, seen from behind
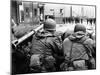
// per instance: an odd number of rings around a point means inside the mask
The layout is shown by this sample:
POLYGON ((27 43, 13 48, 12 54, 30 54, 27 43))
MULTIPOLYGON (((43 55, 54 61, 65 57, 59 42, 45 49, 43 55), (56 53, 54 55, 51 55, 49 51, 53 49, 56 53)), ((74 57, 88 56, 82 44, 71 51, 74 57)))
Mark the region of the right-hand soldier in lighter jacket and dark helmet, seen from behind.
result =
POLYGON ((86 36, 86 28, 76 25, 74 33, 63 42, 65 62, 61 65, 63 70, 86 70, 95 68, 92 56, 93 40, 86 36))

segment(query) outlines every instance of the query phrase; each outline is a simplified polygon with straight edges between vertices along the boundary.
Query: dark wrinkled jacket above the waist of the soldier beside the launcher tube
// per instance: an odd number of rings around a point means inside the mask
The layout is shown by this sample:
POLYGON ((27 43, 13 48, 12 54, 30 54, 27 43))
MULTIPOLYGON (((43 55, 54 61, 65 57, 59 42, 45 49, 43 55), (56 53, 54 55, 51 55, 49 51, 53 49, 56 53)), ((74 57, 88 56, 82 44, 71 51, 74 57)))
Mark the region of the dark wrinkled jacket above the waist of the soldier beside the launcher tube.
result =
POLYGON ((50 32, 38 32, 33 36, 31 54, 62 55, 60 36, 50 32))

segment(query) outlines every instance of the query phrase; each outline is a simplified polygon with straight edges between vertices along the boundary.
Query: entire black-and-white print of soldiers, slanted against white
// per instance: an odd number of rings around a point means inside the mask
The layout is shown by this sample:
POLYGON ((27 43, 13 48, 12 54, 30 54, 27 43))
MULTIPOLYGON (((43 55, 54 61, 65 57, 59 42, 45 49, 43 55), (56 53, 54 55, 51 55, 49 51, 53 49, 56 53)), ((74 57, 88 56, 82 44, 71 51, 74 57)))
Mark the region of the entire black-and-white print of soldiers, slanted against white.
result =
POLYGON ((11 74, 96 70, 96 5, 10 0, 11 74))

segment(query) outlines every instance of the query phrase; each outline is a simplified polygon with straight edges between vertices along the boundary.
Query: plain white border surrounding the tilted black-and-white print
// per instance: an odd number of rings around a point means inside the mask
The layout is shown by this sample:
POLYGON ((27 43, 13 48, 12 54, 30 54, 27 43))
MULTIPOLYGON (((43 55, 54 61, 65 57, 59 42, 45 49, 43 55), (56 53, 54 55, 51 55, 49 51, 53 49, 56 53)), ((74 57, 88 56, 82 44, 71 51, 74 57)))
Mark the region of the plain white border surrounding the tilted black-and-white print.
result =
MULTIPOLYGON (((26 1, 26 0, 24 0, 26 1)), ((73 71, 73 72, 57 72, 57 73, 41 73, 41 75, 98 75, 100 71, 100 0, 27 0, 42 1, 56 3, 71 3, 96 5, 97 9, 97 69, 91 71, 73 71)), ((10 0, 1 0, 0 2, 0 75, 10 74, 10 0)))

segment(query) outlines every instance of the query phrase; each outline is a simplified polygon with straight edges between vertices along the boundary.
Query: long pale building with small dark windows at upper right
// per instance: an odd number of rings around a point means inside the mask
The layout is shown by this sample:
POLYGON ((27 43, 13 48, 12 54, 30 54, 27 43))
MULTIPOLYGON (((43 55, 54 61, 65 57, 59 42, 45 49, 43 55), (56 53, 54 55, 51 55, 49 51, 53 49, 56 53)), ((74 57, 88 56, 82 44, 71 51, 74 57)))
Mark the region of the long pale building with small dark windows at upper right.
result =
POLYGON ((58 24, 95 18, 95 6, 45 3, 45 16, 54 16, 58 24))

